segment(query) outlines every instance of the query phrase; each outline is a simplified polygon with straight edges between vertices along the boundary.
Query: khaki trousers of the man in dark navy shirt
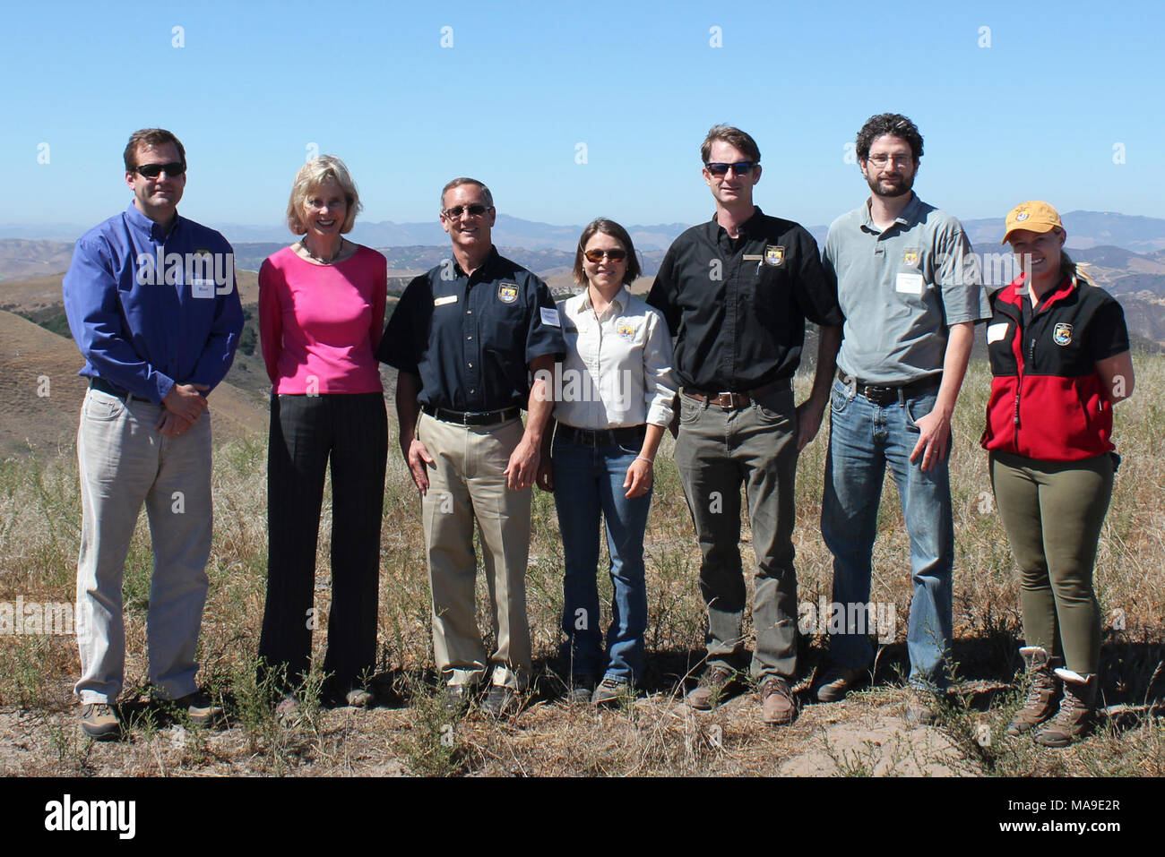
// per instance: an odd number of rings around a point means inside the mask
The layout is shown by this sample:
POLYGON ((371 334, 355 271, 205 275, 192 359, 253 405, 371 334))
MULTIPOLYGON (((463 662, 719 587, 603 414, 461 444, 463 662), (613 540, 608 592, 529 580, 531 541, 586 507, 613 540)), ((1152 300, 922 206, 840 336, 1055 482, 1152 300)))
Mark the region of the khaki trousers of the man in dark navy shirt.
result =
POLYGON ((521 419, 464 426, 421 413, 417 420, 417 439, 433 458, 429 491, 422 501, 433 602, 433 654, 437 670, 450 685, 481 682, 490 664, 494 685, 522 689, 529 681, 532 659, 525 618, 525 566, 530 553, 530 489, 509 490, 503 474, 523 431, 521 419), (474 519, 497 640, 488 658, 476 621, 474 519))

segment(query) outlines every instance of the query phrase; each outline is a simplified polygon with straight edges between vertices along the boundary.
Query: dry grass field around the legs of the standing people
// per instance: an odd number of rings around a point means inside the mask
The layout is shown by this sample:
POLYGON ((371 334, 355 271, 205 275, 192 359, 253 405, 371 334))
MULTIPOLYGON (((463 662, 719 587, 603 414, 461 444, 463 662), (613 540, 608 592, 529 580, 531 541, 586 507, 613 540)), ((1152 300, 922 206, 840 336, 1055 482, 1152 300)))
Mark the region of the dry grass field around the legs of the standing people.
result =
MULTIPOLYGON (((440 706, 432 674, 419 507, 395 454, 395 437, 386 484, 381 654, 374 680, 381 704, 369 711, 324 709, 312 695, 319 682, 316 675, 304 688, 299 717, 277 722, 269 688, 256 686, 254 679, 267 539, 266 433, 260 431, 225 439, 214 459, 214 546, 199 659, 203 684, 227 707, 227 728, 198 729, 147 702, 143 653, 151 555, 143 517, 125 574, 129 659, 123 699, 132 701, 129 739, 94 744, 80 736, 71 696, 78 671, 71 636, 0 636, 0 773, 1162 775, 1165 359, 1138 356, 1136 364, 1136 395, 1116 418, 1124 462, 1096 574, 1104 617, 1106 713, 1096 732, 1072 748, 1044 750, 1030 739, 1005 741, 1002 735, 1023 690, 1017 686, 1019 608, 1017 575, 990 502, 986 453, 979 447, 989 375, 986 364, 976 363, 955 415, 958 681, 940 701, 940 727, 910 729, 899 716, 905 694, 901 674, 909 558, 897 491, 889 480, 871 597, 895 605, 897 624, 892 642, 881 646, 873 686, 842 703, 809 704, 804 692, 827 642, 820 635, 805 635, 798 687, 806 704, 791 727, 765 728, 751 694, 711 714, 696 714, 678 703, 685 678, 701 668, 704 618, 696 586, 699 554, 670 459, 670 440, 657 463, 647 543, 650 673, 644 694, 602 711, 569 707, 562 700, 555 661, 562 545, 553 502, 539 493, 528 575, 538 673, 532 693, 508 722, 490 721, 475 709, 451 720, 440 706)), ((802 390, 806 383, 799 378, 802 390)), ((76 403, 70 408, 76 413, 76 403)), ((819 531, 826 432, 827 425, 803 454, 798 470, 796 543, 803 603, 829 596, 831 559, 819 531)), ((330 589, 326 503, 316 603, 323 615, 330 589)), ((76 460, 68 442, 3 459, 0 603, 72 601, 79 524, 76 460)), ((740 547, 747 568, 751 555, 747 529, 740 547)), ((601 582, 600 592, 609 594, 609 582, 601 582)), ((485 603, 482 582, 479 604, 485 603)), ((483 612, 480 618, 482 628, 488 628, 483 612)), ((315 642, 322 660, 323 632, 316 632, 315 642)))

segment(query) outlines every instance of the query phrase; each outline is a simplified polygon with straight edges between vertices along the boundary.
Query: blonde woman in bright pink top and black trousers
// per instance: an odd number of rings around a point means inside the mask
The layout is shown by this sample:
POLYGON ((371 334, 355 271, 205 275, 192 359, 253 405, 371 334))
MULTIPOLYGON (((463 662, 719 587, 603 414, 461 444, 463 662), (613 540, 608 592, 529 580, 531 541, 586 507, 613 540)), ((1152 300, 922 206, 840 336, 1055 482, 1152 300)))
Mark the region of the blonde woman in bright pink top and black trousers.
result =
POLYGON ((296 175, 288 226, 303 238, 259 270, 259 331, 271 378, 267 454, 267 605, 259 654, 295 708, 311 657, 316 543, 324 475, 332 472, 330 702, 368 707, 376 660, 380 522, 388 423, 373 356, 384 324, 384 257, 344 238, 360 199, 331 156, 296 175), (284 672, 285 670, 285 672, 284 672))

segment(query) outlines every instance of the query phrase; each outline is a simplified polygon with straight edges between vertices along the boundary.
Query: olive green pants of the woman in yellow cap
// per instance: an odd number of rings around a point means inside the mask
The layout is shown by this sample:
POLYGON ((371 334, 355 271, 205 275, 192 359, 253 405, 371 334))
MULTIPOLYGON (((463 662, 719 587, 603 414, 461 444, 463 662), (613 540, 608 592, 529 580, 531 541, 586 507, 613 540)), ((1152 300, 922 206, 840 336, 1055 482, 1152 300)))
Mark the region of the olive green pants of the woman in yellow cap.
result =
POLYGON ((1040 461, 995 452, 991 487, 1019 566, 1023 635, 1082 675, 1100 665, 1096 543, 1113 495, 1113 459, 1040 461))

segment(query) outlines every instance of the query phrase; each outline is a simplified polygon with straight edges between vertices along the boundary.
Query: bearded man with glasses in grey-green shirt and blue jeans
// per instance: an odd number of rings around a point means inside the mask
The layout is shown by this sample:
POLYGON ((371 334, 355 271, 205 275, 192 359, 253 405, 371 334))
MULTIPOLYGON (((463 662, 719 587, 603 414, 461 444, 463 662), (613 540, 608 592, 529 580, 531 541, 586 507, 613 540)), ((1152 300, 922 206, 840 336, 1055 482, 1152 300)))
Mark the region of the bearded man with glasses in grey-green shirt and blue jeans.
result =
POLYGON ((962 226, 911 190, 923 154, 915 123, 892 113, 871 116, 856 149, 871 194, 834 221, 824 254, 846 321, 831 398, 821 534, 833 552, 833 602, 846 619, 845 631, 831 638, 832 668, 814 689, 821 702, 839 700, 873 660, 870 558, 889 465, 913 573, 906 647, 916 693, 906 716, 922 723, 933 713, 917 690, 941 688, 948 678, 951 415, 975 323, 990 312, 962 226))

